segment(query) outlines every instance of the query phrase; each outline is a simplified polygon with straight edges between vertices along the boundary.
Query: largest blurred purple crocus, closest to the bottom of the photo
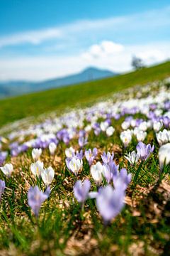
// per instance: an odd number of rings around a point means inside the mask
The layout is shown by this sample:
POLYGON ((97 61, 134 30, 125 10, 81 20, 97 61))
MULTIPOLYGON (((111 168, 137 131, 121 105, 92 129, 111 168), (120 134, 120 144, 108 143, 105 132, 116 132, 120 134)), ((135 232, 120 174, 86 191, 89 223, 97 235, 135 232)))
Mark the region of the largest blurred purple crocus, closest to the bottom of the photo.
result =
POLYGON ((120 189, 113 189, 111 185, 99 190, 96 206, 105 223, 110 222, 120 213, 124 206, 125 193, 120 189))

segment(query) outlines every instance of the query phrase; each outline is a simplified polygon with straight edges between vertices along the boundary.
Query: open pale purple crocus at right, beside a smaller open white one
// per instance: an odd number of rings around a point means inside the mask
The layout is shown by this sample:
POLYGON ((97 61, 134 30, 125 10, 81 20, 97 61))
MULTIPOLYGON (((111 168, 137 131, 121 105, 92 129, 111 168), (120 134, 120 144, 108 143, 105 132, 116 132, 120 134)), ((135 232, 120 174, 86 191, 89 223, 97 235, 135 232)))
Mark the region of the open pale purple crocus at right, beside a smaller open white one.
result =
POLYGON ((150 144, 139 142, 136 146, 137 154, 140 155, 140 159, 147 160, 150 154, 154 151, 154 145, 151 147, 150 144))

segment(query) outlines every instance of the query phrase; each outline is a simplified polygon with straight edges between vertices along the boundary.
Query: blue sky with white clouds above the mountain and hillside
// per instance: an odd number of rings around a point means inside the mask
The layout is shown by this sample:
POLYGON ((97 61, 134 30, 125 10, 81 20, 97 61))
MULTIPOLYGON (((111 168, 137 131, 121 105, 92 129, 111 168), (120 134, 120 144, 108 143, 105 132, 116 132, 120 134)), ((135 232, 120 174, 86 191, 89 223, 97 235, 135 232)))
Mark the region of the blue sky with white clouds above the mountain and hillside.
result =
POLYGON ((47 80, 132 56, 170 58, 169 0, 0 0, 0 81, 47 80))

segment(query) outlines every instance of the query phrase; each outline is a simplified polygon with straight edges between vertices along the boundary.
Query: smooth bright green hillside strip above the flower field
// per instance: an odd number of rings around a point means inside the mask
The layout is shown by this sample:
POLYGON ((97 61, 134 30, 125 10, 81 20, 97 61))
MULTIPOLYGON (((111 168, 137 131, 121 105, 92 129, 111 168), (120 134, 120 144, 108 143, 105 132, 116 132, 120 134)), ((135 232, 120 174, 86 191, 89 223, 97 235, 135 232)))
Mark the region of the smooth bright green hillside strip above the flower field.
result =
POLYGON ((142 85, 169 76, 170 62, 166 62, 114 78, 1 100, 0 127, 16 119, 36 116, 55 109, 60 110, 63 107, 72 107, 81 102, 90 102, 97 97, 118 92, 133 85, 142 85))

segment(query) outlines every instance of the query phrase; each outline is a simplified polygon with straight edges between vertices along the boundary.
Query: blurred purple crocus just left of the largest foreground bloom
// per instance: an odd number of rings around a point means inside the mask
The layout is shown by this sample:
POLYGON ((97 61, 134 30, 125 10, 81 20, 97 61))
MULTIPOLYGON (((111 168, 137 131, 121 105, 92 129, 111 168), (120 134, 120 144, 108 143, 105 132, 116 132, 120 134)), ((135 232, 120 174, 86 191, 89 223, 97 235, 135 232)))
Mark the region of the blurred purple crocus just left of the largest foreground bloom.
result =
POLYGON ((79 203, 84 203, 88 198, 91 183, 89 179, 86 179, 83 183, 77 181, 74 185, 74 196, 79 203))

